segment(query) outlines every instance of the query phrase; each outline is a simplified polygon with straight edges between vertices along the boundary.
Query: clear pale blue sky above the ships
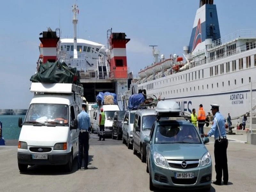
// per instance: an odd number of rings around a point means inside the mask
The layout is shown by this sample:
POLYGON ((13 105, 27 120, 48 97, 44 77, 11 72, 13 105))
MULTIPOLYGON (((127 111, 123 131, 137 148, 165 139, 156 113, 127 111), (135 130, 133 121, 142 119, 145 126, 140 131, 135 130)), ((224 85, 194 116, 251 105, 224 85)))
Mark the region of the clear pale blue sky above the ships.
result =
MULTIPOLYGON (((71 6, 74 0, 10 0, 0 7, 0 109, 28 108, 32 98, 30 77, 36 72, 39 33, 47 27, 73 37, 71 6)), ((107 43, 107 30, 125 32, 127 63, 137 74, 153 62, 151 47, 161 54, 181 55, 188 45, 199 0, 77 1, 78 38, 107 43)), ((220 34, 256 28, 253 0, 214 0, 220 34), (232 3, 231 3, 232 2, 232 3)))

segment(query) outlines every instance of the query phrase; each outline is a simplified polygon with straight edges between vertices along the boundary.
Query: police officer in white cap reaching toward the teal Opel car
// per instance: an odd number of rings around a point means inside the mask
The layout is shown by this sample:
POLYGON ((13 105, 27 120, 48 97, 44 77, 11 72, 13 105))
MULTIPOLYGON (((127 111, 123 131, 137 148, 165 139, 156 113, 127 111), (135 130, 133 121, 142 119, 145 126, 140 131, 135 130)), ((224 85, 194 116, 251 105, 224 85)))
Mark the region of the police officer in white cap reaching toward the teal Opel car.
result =
POLYGON ((210 137, 214 135, 214 158, 215 158, 215 171, 216 181, 215 185, 221 185, 222 170, 223 170, 223 183, 228 185, 228 159, 227 159, 227 148, 228 140, 226 137, 225 130, 225 118, 219 112, 219 105, 211 104, 213 125, 208 133, 204 133, 202 137, 210 137))

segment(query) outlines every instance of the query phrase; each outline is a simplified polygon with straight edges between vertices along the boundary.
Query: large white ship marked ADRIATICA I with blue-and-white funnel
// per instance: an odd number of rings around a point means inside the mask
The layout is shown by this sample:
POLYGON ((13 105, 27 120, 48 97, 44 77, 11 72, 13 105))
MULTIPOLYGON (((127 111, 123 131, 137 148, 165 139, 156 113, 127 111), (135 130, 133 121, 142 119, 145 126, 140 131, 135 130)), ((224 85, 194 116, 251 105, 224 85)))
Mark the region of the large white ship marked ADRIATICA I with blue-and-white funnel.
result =
POLYGON ((135 88, 146 90, 148 97, 175 100, 189 114, 200 104, 210 112, 212 103, 220 105, 224 116, 242 116, 251 108, 255 114, 256 30, 221 38, 216 5, 201 0, 189 46, 183 51, 183 57, 161 55, 159 61, 153 46, 155 63, 140 70, 135 88))

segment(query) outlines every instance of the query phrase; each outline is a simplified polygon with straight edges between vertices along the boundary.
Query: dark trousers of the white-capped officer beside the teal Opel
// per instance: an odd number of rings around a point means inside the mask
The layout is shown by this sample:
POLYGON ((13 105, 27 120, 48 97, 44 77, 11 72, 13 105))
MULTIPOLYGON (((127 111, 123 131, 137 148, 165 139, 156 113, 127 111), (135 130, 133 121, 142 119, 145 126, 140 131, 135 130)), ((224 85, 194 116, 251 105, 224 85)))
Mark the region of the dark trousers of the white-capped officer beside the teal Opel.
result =
POLYGON ((228 183, 227 148, 228 148, 227 139, 221 139, 220 142, 218 140, 215 140, 214 158, 215 158, 216 182, 218 183, 221 183, 222 170, 223 170, 223 182, 228 183))

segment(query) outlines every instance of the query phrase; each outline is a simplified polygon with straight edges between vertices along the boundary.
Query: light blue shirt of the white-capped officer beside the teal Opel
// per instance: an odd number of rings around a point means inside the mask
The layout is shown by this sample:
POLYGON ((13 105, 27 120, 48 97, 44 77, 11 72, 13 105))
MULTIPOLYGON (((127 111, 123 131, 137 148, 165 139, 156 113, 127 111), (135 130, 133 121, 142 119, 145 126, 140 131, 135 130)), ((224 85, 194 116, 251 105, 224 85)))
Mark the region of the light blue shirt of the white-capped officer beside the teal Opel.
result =
POLYGON ((212 121, 213 121, 213 125, 211 127, 211 130, 208 132, 208 137, 212 136, 213 134, 214 134, 215 139, 218 139, 220 136, 221 137, 226 137, 225 119, 220 114, 220 112, 216 112, 212 121), (216 123, 214 118, 217 119, 217 122, 218 122, 219 128, 220 128, 220 133, 219 133, 218 126, 217 126, 217 123, 216 123))

